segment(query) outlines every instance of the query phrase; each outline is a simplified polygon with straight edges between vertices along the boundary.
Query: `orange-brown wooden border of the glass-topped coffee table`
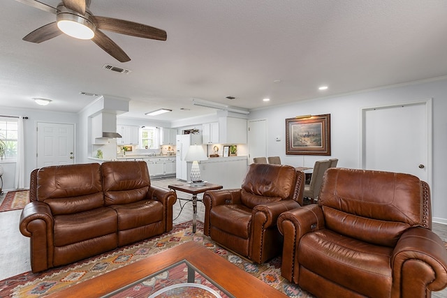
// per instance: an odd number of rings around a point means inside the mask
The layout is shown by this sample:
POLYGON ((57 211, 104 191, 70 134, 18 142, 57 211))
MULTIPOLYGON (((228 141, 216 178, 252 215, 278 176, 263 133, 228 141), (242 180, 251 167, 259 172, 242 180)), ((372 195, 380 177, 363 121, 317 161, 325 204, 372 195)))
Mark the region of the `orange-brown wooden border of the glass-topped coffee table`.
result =
POLYGON ((47 297, 103 297, 186 260, 234 297, 287 297, 204 246, 190 241, 47 297))

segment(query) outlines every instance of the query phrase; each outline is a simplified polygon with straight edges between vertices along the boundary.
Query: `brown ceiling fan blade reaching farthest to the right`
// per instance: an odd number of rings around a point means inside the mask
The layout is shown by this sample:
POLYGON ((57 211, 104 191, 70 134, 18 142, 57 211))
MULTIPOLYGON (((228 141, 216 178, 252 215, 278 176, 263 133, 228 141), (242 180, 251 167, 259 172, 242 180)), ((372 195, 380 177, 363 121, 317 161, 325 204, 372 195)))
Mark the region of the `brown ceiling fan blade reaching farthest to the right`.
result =
POLYGON ((98 29, 156 40, 166 40, 167 37, 166 31, 145 24, 119 20, 112 17, 98 17, 97 15, 91 17, 98 29))

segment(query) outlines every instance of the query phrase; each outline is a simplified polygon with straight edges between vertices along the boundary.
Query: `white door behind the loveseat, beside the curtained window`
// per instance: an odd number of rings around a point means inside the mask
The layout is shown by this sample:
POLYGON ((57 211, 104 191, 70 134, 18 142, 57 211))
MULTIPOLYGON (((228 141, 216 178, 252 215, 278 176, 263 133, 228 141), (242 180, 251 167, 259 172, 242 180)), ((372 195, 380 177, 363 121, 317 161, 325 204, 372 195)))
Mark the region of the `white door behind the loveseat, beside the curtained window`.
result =
POLYGON ((74 124, 37 123, 37 167, 75 163, 74 124))

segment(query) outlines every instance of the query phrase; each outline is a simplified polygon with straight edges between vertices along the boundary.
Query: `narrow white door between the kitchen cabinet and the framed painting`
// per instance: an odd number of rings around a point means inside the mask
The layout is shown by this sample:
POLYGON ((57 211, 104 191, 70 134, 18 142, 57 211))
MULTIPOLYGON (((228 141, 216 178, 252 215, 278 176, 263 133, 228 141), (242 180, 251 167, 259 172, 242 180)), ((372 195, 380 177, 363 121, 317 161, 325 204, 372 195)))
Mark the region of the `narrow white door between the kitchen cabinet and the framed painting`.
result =
POLYGON ((267 157, 267 121, 249 121, 249 164, 255 157, 267 157))

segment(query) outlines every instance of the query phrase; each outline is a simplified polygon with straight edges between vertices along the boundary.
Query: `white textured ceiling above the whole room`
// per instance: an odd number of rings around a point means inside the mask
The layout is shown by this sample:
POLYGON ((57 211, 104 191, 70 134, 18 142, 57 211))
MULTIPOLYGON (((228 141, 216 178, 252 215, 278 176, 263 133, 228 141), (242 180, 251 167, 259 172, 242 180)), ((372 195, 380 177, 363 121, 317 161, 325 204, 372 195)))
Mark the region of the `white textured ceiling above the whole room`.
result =
POLYGON ((23 36, 55 15, 1 4, 0 107, 78 112, 94 100, 85 91, 130 98, 124 117, 169 121, 212 112, 192 98, 256 109, 447 75, 445 0, 92 0, 94 15, 168 33, 159 41, 104 31, 131 57, 126 63, 90 40, 27 43, 23 36), (321 84, 329 89, 318 91, 321 84), (53 101, 40 107, 33 97, 53 101), (160 107, 173 112, 144 115, 160 107))

